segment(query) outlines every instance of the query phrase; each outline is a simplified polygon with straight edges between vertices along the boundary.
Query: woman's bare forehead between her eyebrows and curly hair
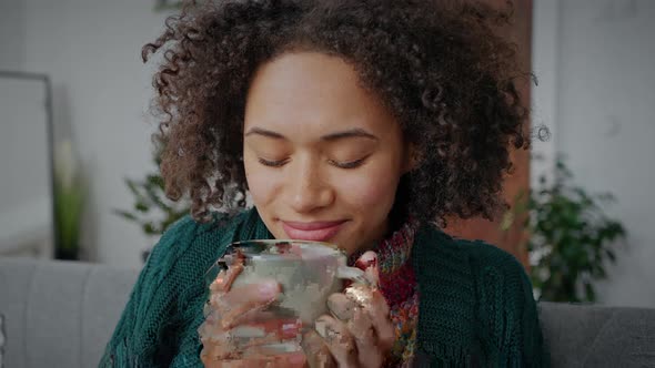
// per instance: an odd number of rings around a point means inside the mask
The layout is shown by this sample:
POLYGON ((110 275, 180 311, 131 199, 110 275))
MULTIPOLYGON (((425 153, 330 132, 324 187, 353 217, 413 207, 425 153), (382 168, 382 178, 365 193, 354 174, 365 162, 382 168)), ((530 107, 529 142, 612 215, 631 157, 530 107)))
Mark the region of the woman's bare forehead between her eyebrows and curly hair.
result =
POLYGON ((337 57, 294 52, 263 64, 245 106, 245 126, 301 133, 302 129, 384 130, 395 121, 377 96, 364 89, 354 68, 337 57))

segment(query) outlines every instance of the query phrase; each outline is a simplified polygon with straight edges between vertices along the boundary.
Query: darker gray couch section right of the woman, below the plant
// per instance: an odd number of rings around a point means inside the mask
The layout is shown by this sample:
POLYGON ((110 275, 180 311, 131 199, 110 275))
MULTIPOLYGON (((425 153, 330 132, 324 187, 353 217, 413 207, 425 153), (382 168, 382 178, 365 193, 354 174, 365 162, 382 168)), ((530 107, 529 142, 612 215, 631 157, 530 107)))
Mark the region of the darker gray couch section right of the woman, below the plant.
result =
POLYGON ((540 303, 552 367, 655 367, 655 309, 540 303))

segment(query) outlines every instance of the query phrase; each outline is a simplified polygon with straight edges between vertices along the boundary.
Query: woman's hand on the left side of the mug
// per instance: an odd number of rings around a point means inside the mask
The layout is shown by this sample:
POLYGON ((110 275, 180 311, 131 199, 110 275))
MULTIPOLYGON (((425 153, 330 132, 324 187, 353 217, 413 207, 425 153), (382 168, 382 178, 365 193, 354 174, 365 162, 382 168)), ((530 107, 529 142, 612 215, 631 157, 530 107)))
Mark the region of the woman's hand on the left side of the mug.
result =
POLYGON ((264 311, 280 294, 274 280, 231 288, 243 264, 221 272, 210 286, 210 305, 199 333, 203 345, 200 357, 205 367, 302 367, 304 355, 271 355, 262 346, 300 334, 296 320, 272 319, 264 311), (250 337, 240 338, 250 331, 250 337))

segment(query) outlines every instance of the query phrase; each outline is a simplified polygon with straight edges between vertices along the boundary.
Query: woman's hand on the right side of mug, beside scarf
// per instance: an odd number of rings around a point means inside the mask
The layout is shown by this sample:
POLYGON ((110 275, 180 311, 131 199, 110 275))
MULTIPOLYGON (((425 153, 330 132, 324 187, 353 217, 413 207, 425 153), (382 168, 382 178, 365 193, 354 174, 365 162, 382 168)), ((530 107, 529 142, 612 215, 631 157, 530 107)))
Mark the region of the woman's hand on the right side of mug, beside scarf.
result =
POLYGON ((303 349, 311 367, 381 367, 395 340, 389 305, 377 289, 376 255, 366 252, 355 264, 371 285, 354 284, 330 296, 331 315, 316 319, 303 349))

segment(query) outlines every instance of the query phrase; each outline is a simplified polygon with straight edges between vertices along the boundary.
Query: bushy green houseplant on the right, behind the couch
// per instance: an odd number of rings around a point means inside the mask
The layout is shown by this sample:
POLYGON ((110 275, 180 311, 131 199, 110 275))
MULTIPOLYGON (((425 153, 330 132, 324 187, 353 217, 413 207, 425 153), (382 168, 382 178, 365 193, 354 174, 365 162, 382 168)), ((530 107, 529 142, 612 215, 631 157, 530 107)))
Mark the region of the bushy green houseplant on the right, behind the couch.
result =
POLYGON ((575 186, 573 173, 558 157, 552 183, 541 177, 517 202, 510 217, 526 218, 530 276, 540 300, 596 300, 594 283, 606 278, 606 265, 616 258, 615 242, 625 237, 622 223, 603 209, 612 201, 609 193, 590 194, 575 186))

